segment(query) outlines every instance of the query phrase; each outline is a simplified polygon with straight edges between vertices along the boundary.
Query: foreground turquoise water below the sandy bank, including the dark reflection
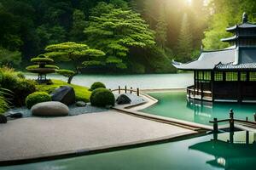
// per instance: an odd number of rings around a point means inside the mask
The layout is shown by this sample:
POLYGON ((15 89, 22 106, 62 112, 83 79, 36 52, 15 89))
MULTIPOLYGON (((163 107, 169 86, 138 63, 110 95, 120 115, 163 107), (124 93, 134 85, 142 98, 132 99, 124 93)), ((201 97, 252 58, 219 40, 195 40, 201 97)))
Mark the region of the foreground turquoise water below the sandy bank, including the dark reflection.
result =
POLYGON ((249 133, 249 144, 245 143, 245 132, 237 132, 230 144, 230 133, 186 139, 166 144, 119 150, 108 153, 80 156, 57 161, 44 161, 1 170, 212 170, 253 169, 256 166, 255 134, 249 133))

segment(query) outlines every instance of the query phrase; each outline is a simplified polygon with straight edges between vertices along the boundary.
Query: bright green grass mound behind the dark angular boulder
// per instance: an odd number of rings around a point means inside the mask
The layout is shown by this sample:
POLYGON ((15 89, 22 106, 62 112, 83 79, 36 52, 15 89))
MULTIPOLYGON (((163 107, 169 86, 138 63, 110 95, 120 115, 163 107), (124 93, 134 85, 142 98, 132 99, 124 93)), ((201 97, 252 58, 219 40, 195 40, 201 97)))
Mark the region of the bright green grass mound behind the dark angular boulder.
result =
POLYGON ((38 91, 44 91, 50 94, 55 90, 55 88, 60 88, 61 86, 71 86, 75 91, 76 99, 78 101, 89 102, 90 94, 91 94, 91 92, 89 91, 89 88, 79 86, 79 85, 74 85, 74 84, 68 84, 67 82, 63 82, 61 80, 52 79, 52 82, 53 84, 51 85, 46 85, 46 84, 37 85, 38 91))

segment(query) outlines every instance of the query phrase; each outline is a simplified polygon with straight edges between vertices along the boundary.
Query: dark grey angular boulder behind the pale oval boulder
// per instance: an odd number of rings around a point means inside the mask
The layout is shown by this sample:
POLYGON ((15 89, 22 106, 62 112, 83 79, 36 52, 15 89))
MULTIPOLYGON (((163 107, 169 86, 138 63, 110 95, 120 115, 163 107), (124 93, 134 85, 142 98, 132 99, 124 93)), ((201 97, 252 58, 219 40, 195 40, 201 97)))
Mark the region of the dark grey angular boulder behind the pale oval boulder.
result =
POLYGON ((72 105, 76 101, 76 95, 72 87, 61 86, 50 94, 53 101, 59 101, 65 105, 72 105))

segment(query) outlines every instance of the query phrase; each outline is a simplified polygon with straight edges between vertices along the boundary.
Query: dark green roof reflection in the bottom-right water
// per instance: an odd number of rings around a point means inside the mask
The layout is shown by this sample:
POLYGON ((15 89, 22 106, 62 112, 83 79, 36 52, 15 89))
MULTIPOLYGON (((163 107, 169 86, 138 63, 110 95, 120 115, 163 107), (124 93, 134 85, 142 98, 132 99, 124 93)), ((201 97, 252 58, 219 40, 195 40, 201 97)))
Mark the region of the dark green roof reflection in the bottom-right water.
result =
POLYGON ((253 169, 256 166, 256 135, 255 133, 230 132, 228 135, 213 134, 213 139, 189 146, 190 150, 198 150, 215 159, 206 161, 213 167, 224 169, 253 169))

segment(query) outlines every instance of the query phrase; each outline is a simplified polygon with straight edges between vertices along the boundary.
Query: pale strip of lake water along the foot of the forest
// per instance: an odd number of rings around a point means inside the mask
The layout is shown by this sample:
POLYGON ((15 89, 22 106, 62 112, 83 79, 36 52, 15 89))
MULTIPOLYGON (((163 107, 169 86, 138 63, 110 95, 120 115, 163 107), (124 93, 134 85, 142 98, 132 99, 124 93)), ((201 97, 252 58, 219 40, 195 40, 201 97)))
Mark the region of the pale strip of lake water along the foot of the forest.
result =
MULTIPOLYGON (((27 78, 37 78, 37 75, 26 73, 27 78)), ((51 74, 49 78, 67 81, 66 77, 51 74)), ((118 88, 119 86, 142 89, 159 88, 187 88, 193 84, 192 73, 179 74, 145 74, 145 75, 78 75, 73 78, 73 83, 90 87, 93 82, 104 82, 107 88, 118 88)))

